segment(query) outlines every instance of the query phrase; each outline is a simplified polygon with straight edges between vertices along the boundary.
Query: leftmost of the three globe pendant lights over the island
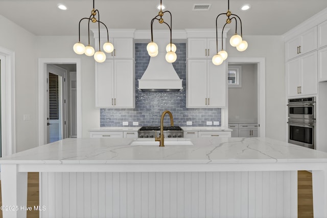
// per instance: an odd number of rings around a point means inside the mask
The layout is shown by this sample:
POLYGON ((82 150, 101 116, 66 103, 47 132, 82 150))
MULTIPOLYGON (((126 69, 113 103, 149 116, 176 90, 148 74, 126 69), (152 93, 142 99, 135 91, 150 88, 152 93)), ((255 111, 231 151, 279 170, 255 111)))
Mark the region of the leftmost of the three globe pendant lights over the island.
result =
POLYGON ((100 14, 98 9, 95 9, 94 7, 94 1, 93 0, 93 9, 91 10, 91 15, 89 17, 84 17, 80 19, 79 25, 78 25, 78 42, 75 43, 73 49, 76 54, 85 54, 87 56, 94 56, 94 59, 101 63, 106 60, 106 54, 101 51, 101 46, 100 46, 100 24, 103 24, 105 28, 107 29, 107 42, 104 43, 103 45, 103 50, 107 53, 111 53, 113 51, 113 45, 112 43, 109 42, 109 33, 108 33, 108 28, 107 26, 100 21, 100 14), (98 19, 96 18, 96 15, 98 13, 98 19), (84 46, 81 43, 81 21, 83 19, 88 19, 88 45, 84 46), (98 29, 99 29, 99 51, 95 52, 94 48, 90 46, 90 21, 92 23, 97 23, 98 22, 98 29))

